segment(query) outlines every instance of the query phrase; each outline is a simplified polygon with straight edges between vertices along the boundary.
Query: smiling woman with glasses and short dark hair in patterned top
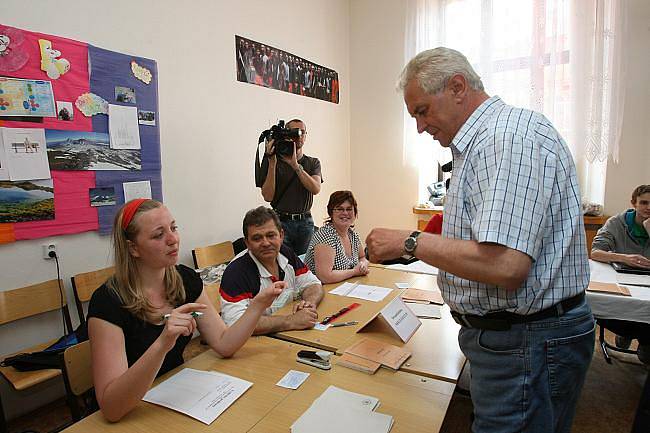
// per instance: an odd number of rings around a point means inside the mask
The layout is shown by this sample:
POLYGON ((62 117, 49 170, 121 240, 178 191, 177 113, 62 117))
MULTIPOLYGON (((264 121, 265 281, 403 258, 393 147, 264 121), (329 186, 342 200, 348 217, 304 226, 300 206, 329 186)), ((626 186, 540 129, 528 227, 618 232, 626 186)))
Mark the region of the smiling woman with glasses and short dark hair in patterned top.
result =
POLYGON ((354 231, 357 201, 351 191, 336 191, 327 203, 329 218, 311 238, 305 263, 323 284, 366 275, 368 260, 354 231))

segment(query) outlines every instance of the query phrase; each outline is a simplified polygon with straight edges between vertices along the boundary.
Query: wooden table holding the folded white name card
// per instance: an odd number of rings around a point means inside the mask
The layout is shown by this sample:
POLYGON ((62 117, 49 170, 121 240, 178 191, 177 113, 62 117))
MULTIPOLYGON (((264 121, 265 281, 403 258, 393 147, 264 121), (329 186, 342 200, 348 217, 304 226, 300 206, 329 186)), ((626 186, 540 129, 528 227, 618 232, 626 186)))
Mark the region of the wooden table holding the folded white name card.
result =
MULTIPOLYGON (((432 290, 438 287, 435 275, 416 274, 376 266, 372 266, 370 273, 365 277, 350 281, 390 288, 395 288, 397 282, 409 283, 410 287, 423 290, 432 290)), ((325 286, 325 291, 329 292, 340 284, 328 284, 325 286)), ((407 343, 403 343, 385 323, 379 320, 373 321, 360 330, 364 323, 367 323, 400 292, 400 290, 394 290, 394 293, 391 293, 382 302, 363 301, 327 293, 323 302, 318 306, 319 316, 324 317, 352 302, 359 302, 362 304, 361 307, 339 319, 344 321, 359 320, 359 325, 329 328, 326 331, 310 329, 280 332, 275 336, 306 346, 331 350, 338 354, 343 353, 345 348, 362 338, 369 337, 385 341, 395 346, 405 347, 412 352, 411 358, 402 366, 402 370, 456 383, 465 364, 465 356, 458 346, 460 326, 454 322, 449 313, 449 307, 446 305, 442 308, 441 319, 421 319, 422 326, 407 343)), ((290 306, 286 306, 278 314, 287 314, 288 311, 290 311, 290 306)))

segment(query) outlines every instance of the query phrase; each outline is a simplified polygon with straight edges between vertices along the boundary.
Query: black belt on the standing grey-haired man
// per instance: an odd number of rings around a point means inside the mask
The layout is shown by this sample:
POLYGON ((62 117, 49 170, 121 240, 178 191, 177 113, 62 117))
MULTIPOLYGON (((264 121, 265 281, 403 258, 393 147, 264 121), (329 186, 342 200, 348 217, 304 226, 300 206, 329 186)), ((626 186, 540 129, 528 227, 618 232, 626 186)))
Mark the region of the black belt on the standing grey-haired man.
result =
POLYGON ((560 301, 552 307, 528 315, 515 314, 509 311, 499 311, 497 313, 488 313, 485 316, 477 316, 474 314, 460 314, 456 311, 452 311, 451 316, 454 318, 456 323, 468 328, 507 331, 510 329, 511 325, 517 323, 535 322, 550 317, 560 317, 567 311, 577 307, 584 301, 584 299, 585 292, 582 292, 572 298, 560 301))

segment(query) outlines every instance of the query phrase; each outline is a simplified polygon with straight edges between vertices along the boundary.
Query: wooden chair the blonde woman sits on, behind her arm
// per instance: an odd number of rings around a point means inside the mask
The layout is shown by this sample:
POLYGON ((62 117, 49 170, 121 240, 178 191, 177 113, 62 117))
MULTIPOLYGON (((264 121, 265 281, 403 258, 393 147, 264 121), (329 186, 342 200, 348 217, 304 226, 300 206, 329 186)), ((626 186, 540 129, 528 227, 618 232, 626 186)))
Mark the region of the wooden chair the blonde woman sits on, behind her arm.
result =
POLYGON ((68 347, 63 352, 63 383, 73 420, 79 421, 98 409, 93 389, 90 341, 68 347), (82 404, 80 404, 80 401, 82 404))

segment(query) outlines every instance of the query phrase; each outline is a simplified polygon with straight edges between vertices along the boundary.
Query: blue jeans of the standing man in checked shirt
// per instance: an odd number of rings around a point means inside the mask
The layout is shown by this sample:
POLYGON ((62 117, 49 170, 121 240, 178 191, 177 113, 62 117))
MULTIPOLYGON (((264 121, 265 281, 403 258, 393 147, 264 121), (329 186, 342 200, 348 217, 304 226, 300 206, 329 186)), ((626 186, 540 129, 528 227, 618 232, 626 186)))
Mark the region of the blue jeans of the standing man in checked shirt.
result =
POLYGON ((458 341, 470 362, 474 433, 570 432, 594 352, 586 301, 507 331, 463 326, 458 341))

